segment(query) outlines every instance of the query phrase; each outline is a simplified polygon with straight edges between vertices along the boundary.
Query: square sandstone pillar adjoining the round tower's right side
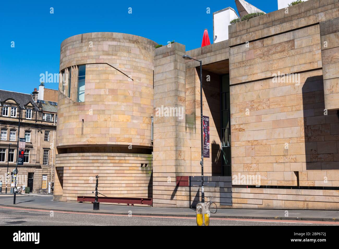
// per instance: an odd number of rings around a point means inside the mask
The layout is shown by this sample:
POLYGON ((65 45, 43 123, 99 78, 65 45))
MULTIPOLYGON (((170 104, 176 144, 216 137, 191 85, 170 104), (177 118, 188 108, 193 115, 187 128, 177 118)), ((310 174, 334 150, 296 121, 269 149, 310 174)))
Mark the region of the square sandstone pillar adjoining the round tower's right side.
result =
MULTIPOLYGON (((170 45, 157 48, 154 60, 154 207, 176 207, 176 176, 180 175, 186 154, 181 150, 185 130, 185 62, 182 58, 185 46, 170 45)), ((188 161, 189 152, 187 155, 188 161)))

